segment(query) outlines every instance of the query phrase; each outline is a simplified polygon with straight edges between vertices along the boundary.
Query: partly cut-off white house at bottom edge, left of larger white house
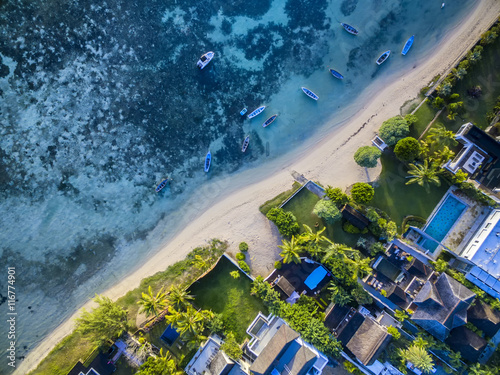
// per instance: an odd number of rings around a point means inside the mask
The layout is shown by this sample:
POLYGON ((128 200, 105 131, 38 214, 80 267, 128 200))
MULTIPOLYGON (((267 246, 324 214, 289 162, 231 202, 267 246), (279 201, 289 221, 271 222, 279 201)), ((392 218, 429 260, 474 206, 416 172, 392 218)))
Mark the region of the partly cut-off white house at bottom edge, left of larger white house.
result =
POLYGON ((184 369, 187 375, 248 375, 245 363, 235 362, 220 350, 223 341, 210 336, 184 369))

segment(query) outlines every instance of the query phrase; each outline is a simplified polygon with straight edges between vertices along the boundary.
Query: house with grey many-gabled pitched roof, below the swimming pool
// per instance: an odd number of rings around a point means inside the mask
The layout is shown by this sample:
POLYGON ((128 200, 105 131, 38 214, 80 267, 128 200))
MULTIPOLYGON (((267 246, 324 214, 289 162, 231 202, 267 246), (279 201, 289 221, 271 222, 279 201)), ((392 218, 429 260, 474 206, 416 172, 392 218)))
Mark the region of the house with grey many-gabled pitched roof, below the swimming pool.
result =
POLYGON ((467 308, 475 294, 455 279, 442 273, 428 280, 410 308, 411 319, 437 339, 444 341, 453 328, 467 323, 467 308))

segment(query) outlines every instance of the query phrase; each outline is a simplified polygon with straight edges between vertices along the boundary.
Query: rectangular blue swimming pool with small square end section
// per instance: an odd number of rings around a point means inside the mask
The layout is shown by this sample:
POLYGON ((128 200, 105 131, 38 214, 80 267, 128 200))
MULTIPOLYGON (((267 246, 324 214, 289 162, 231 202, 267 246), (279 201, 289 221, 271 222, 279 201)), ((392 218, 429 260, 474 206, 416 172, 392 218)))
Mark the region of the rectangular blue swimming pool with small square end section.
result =
MULTIPOLYGON (((459 201, 453 195, 448 194, 431 221, 425 226, 424 232, 441 242, 466 208, 467 205, 459 201)), ((436 242, 423 237, 417 243, 432 253, 437 248, 436 242)))

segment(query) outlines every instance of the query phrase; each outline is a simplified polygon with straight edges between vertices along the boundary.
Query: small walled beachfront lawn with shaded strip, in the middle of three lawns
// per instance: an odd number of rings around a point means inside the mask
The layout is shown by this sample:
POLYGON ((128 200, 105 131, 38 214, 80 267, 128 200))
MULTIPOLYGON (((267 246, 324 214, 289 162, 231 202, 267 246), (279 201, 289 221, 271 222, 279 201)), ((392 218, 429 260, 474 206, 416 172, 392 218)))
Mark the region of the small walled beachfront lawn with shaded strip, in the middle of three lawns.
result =
POLYGON ((314 205, 319 201, 319 197, 307 190, 302 189, 297 195, 295 195, 284 207, 286 211, 291 211, 300 225, 301 233, 304 232, 304 227, 302 224, 306 224, 309 227, 315 227, 316 223, 319 224, 318 230, 323 229, 326 225, 326 230, 324 235, 330 240, 336 243, 343 243, 348 246, 355 246, 358 241, 359 234, 350 234, 342 230, 342 222, 338 221, 335 224, 326 224, 323 219, 313 214, 312 210, 314 205))

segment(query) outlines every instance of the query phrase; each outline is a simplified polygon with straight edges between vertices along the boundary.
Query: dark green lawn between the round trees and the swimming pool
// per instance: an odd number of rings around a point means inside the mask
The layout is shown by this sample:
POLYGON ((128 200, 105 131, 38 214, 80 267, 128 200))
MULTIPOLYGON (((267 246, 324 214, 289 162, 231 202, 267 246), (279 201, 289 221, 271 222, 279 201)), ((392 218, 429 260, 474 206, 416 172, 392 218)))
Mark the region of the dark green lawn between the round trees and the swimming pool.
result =
POLYGON ((448 184, 442 181, 440 187, 433 186, 427 193, 416 184, 406 185, 407 168, 392 153, 382 154, 380 160, 382 173, 370 205, 387 212, 398 226, 401 226, 407 215, 421 216, 426 219, 443 197, 448 184))

